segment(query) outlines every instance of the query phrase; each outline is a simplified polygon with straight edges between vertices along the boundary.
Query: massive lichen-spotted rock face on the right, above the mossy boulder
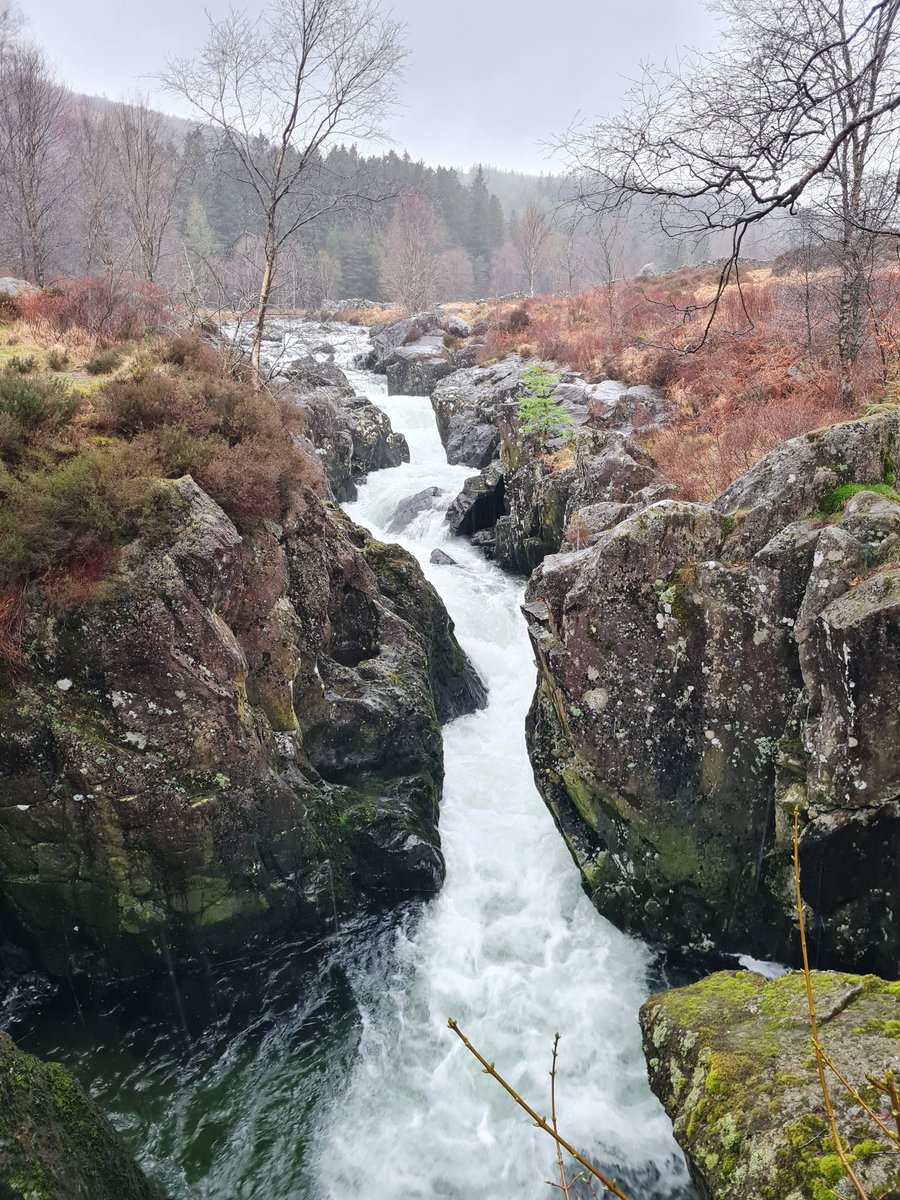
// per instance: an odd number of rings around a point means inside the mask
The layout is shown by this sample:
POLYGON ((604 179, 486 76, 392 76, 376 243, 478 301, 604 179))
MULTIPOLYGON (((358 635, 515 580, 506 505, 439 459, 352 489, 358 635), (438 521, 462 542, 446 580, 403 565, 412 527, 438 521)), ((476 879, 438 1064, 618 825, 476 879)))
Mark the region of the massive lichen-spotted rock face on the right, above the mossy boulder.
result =
POLYGON ((804 515, 850 472, 823 456, 883 472, 895 422, 788 443, 796 469, 779 448, 726 493, 743 510, 611 494, 581 510, 586 548, 534 574, 535 778, 620 926, 689 956, 794 953, 799 806, 818 964, 896 973, 900 505, 804 515))

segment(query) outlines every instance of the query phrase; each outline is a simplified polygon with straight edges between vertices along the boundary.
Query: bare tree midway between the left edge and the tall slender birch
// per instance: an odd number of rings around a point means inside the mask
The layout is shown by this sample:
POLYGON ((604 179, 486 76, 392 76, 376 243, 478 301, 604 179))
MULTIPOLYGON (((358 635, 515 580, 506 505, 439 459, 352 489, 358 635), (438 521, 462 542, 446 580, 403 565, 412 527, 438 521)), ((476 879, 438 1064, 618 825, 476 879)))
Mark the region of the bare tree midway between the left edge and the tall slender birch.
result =
POLYGON ((163 115, 154 112, 144 96, 116 104, 113 126, 125 212, 142 271, 154 283, 181 186, 184 158, 166 137, 163 115))

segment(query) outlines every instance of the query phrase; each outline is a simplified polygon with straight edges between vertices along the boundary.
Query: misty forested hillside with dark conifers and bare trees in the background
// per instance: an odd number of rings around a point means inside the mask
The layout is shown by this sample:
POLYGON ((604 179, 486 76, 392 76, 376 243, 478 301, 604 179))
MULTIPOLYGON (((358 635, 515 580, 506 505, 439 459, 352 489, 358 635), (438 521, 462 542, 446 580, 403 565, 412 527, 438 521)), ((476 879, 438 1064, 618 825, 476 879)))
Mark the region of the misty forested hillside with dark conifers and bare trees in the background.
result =
MULTIPOLYGON (((1 19, 1 17, 0 17, 1 19)), ((264 227, 253 172, 215 127, 134 95, 71 92, 40 46, 0 34, 0 271, 132 276, 192 308, 258 299, 264 227)), ((270 149, 270 148, 269 148, 270 149)), ((262 156, 266 144, 256 148, 262 156)), ((289 151, 289 155, 295 151, 289 151)), ((272 301, 284 308, 370 299, 422 307, 512 292, 608 283, 721 252, 640 218, 572 221, 568 184, 479 166, 426 166, 395 150, 332 143, 286 200, 272 301)))

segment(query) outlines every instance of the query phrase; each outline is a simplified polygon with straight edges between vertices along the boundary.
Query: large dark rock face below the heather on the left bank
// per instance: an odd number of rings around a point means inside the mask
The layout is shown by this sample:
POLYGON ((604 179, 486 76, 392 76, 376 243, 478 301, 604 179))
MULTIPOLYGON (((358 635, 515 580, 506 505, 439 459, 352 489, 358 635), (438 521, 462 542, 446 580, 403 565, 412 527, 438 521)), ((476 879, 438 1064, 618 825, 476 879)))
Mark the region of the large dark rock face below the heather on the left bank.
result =
POLYGON ((56 973, 433 892, 439 720, 484 703, 415 562, 306 493, 244 539, 190 478, 0 679, 0 919, 56 973))

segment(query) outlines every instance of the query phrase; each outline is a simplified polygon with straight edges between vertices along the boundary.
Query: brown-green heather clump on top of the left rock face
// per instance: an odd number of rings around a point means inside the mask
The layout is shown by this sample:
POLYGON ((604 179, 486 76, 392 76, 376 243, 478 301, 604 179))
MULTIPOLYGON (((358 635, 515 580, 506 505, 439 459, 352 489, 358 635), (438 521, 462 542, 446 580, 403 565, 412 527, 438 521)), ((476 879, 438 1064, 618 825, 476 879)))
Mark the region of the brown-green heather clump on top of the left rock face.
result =
POLYGON ((296 420, 190 334, 145 348, 90 396, 47 374, 0 374, 0 662, 18 660, 26 596, 83 602, 121 546, 168 534, 181 500, 162 480, 193 475, 242 530, 283 518, 320 480, 296 420))

